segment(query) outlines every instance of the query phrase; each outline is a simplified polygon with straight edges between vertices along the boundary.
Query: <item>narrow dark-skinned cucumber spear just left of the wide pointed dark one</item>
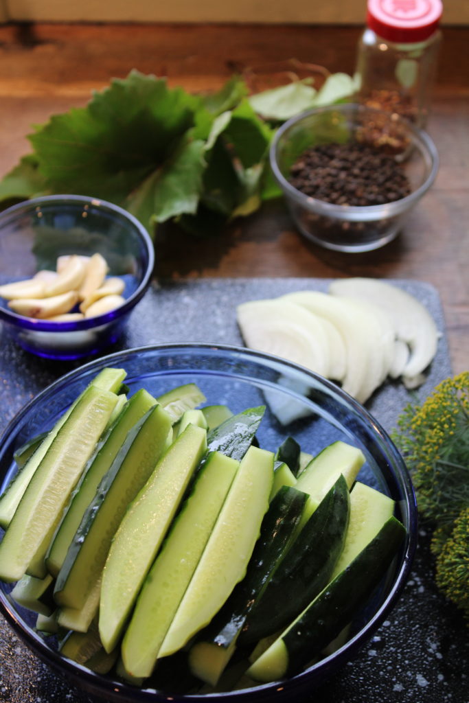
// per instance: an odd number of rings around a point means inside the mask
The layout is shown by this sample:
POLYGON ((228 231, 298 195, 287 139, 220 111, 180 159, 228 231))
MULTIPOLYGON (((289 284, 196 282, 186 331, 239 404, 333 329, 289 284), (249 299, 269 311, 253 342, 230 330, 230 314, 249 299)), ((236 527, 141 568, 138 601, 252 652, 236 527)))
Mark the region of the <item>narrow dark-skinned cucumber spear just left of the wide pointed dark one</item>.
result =
POLYGON ((217 685, 250 610, 262 599, 267 583, 293 543, 306 500, 307 494, 282 486, 271 501, 243 581, 189 652, 190 669, 202 681, 217 685))

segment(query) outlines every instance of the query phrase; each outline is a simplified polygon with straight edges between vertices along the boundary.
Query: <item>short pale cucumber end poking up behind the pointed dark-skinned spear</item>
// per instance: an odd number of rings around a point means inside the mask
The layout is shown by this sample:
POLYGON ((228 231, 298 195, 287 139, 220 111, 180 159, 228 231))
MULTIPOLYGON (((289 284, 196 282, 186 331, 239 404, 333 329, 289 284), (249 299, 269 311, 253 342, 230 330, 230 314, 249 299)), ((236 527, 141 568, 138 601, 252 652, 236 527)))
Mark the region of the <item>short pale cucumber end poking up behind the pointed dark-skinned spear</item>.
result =
POLYGON ((295 488, 320 503, 340 474, 347 481, 349 489, 352 488, 364 463, 365 457, 360 449, 343 441, 335 441, 311 459, 298 476, 295 488))

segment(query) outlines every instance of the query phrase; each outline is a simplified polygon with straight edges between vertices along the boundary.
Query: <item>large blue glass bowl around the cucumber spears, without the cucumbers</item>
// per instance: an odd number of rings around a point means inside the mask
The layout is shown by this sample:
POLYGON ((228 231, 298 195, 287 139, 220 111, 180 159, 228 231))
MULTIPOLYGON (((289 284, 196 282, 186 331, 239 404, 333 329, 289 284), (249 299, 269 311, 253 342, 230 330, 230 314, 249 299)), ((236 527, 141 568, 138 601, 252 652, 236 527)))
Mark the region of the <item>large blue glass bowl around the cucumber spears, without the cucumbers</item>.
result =
POLYGON ((285 681, 233 692, 181 695, 156 688, 134 688, 112 676, 92 673, 65 659, 53 638, 34 632, 34 615, 8 597, 11 584, 0 583, 0 608, 18 635, 45 662, 56 667, 68 680, 107 701, 122 703, 260 703, 275 699, 303 700, 335 671, 354 657, 387 616, 409 576, 417 540, 416 500, 411 479, 392 441, 362 406, 333 383, 281 361, 274 356, 247 349, 210 344, 167 344, 118 352, 82 366, 65 375, 30 402, 8 426, 0 444, 0 481, 4 486, 14 471, 13 453, 28 437, 53 425, 91 378, 105 366, 127 370, 129 394, 145 387, 154 395, 178 385, 195 382, 209 404, 227 404, 233 412, 268 400, 266 415, 257 437, 260 446, 274 450, 287 434, 302 449, 316 453, 323 446, 342 439, 359 446, 366 464, 359 474, 365 482, 396 501, 396 515, 407 529, 399 555, 380 587, 364 609, 356 614, 349 640, 339 650, 306 671, 285 681), (271 407, 288 406, 293 419, 281 425, 271 407))

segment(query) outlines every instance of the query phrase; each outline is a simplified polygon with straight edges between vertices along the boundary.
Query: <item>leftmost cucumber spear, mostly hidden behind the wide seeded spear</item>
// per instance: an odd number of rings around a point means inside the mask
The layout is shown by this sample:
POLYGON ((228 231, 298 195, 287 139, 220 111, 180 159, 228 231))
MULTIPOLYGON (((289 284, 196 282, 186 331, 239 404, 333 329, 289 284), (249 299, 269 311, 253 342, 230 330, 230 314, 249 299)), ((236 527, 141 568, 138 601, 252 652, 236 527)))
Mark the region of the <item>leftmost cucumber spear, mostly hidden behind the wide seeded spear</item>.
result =
MULTIPOLYGON (((96 377, 91 381, 90 385, 94 385, 102 390, 108 390, 110 392, 117 392, 117 390, 122 385, 122 380, 125 378, 126 372, 122 368, 104 368, 96 377)), ((6 529, 15 514, 16 508, 18 508, 18 503, 20 502, 23 494, 26 490, 27 484, 29 484, 34 472, 36 471, 39 463, 46 455, 46 451, 51 446, 54 437, 60 427, 62 427, 65 420, 72 412, 79 399, 82 397, 81 394, 75 402, 68 408, 67 411, 57 420, 56 424, 50 432, 46 433, 46 436, 42 441, 39 442, 36 451, 32 453, 32 456, 26 461, 25 465, 21 468, 18 474, 13 477, 13 481, 8 484, 8 487, 4 494, 0 496, 0 527, 6 529)), ((36 438, 31 441, 34 442, 36 438)))

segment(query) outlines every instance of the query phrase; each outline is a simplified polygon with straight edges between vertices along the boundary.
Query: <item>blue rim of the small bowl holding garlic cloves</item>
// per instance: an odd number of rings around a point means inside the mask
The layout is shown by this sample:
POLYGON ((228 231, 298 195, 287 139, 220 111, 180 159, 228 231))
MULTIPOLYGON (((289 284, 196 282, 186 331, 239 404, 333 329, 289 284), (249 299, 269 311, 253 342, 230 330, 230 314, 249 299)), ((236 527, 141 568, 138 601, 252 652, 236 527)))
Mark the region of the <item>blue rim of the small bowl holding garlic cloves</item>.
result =
POLYGON ((0 228, 4 226, 8 219, 15 216, 17 212, 21 210, 34 209, 39 205, 46 205, 49 203, 61 203, 65 204, 70 202, 75 205, 80 203, 83 205, 92 205, 93 207, 98 207, 103 210, 107 210, 120 218, 127 220, 139 234, 139 237, 143 241, 145 246, 146 254, 148 256, 148 265, 146 270, 143 272, 143 278, 139 283, 138 287, 134 292, 126 299, 126 301, 118 308, 106 312, 102 315, 97 315, 92 318, 84 318, 83 320, 69 321, 69 322, 51 322, 47 320, 42 320, 39 318, 29 318, 23 315, 19 315, 13 311, 9 311, 3 307, 0 307, 0 320, 6 323, 15 325, 17 327, 34 330, 37 332, 74 332, 82 330, 90 330, 101 325, 105 325, 110 321, 119 319, 121 316, 129 313, 134 305, 139 302, 143 297, 148 285, 150 284, 150 278, 153 275, 153 269, 155 266, 155 249, 153 247, 153 242, 148 234, 146 227, 141 224, 141 222, 134 217, 130 212, 115 205, 113 202, 108 202, 108 200, 103 200, 102 198, 94 198, 91 195, 68 195, 68 194, 58 194, 58 195, 41 195, 39 198, 31 198, 30 200, 23 200, 18 202, 11 207, 7 207, 0 212, 0 228))

